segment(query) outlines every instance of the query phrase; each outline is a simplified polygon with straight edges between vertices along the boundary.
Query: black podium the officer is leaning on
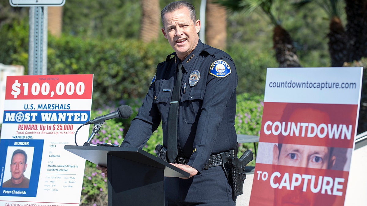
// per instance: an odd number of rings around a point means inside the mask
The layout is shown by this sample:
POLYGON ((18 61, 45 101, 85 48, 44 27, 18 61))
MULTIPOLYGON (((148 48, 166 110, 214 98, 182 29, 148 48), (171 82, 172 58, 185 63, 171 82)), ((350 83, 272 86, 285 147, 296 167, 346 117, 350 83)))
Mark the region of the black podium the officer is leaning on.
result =
POLYGON ((162 206, 164 177, 189 177, 139 148, 65 145, 64 149, 108 168, 108 206, 162 206))

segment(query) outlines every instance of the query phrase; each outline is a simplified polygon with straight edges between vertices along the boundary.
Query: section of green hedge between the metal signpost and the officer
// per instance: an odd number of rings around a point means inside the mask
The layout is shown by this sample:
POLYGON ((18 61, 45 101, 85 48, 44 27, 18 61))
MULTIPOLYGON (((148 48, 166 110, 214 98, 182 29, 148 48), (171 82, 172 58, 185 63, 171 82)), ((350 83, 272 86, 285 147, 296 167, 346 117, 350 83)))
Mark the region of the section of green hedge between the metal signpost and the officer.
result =
POLYGON ((50 38, 49 74, 94 74, 93 107, 121 99, 143 98, 157 63, 172 51, 139 40, 50 38))

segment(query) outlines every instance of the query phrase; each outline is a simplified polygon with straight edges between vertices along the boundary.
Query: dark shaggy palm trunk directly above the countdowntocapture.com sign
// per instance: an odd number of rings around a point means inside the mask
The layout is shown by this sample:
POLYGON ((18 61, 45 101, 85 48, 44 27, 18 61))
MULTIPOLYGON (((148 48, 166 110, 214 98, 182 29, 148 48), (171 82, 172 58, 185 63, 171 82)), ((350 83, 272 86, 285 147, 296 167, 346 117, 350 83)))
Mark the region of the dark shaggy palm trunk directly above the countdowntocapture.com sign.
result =
POLYGON ((275 26, 273 44, 279 67, 301 67, 289 33, 280 25, 275 26))

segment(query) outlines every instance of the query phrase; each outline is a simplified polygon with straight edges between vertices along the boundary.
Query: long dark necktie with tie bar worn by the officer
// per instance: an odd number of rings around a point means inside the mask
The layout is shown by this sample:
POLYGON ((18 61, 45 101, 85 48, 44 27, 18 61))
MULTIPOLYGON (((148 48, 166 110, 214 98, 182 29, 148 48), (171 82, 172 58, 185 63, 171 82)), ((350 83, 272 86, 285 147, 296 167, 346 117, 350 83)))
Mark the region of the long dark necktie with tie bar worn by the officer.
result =
POLYGON ((167 155, 168 160, 173 162, 177 157, 177 126, 178 126, 178 106, 181 92, 182 65, 177 66, 175 84, 173 86, 170 110, 168 111, 168 137, 167 155))

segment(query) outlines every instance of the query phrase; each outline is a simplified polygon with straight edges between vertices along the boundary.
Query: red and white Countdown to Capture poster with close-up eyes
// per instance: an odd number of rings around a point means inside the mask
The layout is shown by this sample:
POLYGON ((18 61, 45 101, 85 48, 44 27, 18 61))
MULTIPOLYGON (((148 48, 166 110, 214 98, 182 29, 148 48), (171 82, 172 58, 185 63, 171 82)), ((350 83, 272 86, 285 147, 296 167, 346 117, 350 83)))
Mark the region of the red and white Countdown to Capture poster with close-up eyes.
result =
POLYGON ((250 206, 344 205, 362 71, 268 68, 250 206))

